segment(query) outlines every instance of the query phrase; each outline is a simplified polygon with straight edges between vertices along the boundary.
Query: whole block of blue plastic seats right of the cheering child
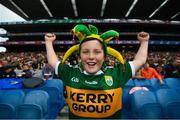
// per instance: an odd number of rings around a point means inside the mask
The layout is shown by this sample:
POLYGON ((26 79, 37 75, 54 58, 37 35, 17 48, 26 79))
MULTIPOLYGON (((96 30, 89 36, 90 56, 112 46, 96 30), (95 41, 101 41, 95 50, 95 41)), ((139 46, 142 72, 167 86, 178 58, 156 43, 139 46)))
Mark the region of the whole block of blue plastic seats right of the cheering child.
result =
POLYGON ((167 78, 164 81, 162 86, 158 80, 128 81, 123 92, 123 118, 179 119, 180 79, 167 78), (149 90, 137 90, 129 94, 135 86, 145 86, 149 90))

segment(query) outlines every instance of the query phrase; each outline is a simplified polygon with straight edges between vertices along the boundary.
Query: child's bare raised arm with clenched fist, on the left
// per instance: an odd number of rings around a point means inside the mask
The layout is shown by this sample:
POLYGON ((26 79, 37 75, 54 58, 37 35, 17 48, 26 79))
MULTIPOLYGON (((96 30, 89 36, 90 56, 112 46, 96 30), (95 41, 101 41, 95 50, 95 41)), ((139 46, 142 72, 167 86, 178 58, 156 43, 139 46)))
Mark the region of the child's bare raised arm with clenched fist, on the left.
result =
POLYGON ((46 33, 44 36, 48 63, 55 68, 58 58, 53 48, 53 41, 56 39, 54 33, 46 33))

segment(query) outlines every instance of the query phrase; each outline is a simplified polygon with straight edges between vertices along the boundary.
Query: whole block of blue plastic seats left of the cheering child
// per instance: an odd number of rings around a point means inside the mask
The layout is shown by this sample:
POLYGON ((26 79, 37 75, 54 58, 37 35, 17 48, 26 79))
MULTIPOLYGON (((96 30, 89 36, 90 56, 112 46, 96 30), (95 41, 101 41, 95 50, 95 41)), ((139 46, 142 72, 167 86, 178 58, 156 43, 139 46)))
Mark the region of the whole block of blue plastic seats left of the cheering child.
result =
POLYGON ((0 119, 54 119, 63 106, 60 80, 33 89, 0 90, 0 119))

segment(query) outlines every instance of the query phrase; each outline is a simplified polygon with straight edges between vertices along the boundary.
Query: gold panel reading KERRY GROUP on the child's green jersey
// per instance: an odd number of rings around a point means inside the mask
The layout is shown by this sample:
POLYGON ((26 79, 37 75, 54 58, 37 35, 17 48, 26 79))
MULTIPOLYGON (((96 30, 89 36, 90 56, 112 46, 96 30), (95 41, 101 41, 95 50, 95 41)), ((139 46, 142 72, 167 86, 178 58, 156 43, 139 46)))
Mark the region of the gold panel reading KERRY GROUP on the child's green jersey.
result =
POLYGON ((66 87, 70 111, 80 117, 105 118, 121 110, 122 89, 85 90, 66 87))

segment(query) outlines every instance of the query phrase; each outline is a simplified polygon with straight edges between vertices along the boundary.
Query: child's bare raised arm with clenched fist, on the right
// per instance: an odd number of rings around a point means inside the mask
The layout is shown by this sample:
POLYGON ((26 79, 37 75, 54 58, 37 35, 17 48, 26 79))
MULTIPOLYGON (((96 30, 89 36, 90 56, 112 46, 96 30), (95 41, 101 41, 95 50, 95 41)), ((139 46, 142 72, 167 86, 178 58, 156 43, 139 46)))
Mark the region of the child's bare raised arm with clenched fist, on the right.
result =
POLYGON ((140 32, 137 35, 137 39, 140 42, 140 47, 134 60, 132 61, 135 67, 135 71, 137 71, 146 62, 149 37, 149 34, 146 32, 140 32))

